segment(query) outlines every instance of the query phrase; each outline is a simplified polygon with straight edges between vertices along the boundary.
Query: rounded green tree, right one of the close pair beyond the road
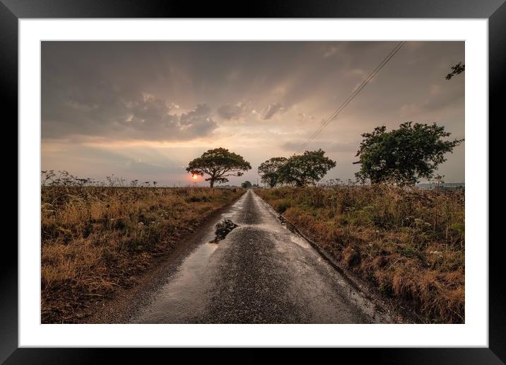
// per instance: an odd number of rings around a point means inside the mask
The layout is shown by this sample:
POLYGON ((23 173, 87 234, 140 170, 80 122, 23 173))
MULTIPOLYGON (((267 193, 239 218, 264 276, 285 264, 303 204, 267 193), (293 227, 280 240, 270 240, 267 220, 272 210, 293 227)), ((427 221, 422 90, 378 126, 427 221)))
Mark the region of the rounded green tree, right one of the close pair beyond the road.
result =
POLYGON ((278 168, 279 182, 295 186, 316 185, 327 171, 336 167, 336 161, 324 156, 325 151, 305 151, 293 155, 278 168))

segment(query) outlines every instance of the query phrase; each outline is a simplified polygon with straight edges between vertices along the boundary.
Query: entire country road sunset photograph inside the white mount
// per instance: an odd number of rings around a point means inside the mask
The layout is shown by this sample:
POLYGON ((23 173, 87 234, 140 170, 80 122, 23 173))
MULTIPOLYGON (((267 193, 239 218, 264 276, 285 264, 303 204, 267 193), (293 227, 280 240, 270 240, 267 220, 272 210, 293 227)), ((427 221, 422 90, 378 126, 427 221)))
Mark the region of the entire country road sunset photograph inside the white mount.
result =
POLYGON ((466 323, 465 50, 42 40, 40 323, 466 323))

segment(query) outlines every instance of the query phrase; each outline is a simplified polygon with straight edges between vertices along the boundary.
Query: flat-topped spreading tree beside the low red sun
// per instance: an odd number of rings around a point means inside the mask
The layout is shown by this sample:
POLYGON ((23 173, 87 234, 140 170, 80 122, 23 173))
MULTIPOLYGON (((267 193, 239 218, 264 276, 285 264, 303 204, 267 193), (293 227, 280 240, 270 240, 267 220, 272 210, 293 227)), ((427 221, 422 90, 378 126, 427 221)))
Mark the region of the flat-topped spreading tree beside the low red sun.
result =
POLYGON ((211 187, 214 183, 219 184, 228 182, 228 176, 242 176, 242 171, 251 170, 249 162, 245 161, 237 153, 228 151, 228 149, 210 149, 202 153, 202 156, 190 161, 187 171, 194 175, 209 175, 206 181, 211 187))

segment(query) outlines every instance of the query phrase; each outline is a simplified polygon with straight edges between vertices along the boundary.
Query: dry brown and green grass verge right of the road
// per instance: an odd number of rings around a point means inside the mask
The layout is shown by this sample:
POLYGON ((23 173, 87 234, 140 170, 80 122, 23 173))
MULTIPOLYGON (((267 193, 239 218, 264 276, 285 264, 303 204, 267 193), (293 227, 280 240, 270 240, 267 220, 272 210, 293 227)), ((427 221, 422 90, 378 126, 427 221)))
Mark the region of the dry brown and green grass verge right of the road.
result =
POLYGON ((256 192, 423 322, 464 322, 463 190, 379 185, 256 192))

